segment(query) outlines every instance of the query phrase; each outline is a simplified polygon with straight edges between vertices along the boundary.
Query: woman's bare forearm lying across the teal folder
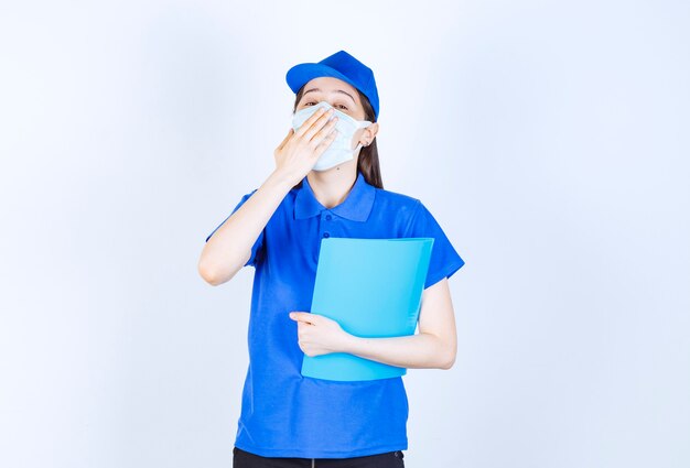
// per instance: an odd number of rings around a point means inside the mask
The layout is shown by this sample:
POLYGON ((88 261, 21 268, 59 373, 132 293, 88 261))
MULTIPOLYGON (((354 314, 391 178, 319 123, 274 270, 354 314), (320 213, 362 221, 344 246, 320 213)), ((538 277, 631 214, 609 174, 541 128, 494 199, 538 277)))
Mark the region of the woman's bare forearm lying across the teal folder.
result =
POLYGON ((409 369, 450 369, 454 349, 431 334, 390 338, 363 338, 349 335, 343 352, 409 369))

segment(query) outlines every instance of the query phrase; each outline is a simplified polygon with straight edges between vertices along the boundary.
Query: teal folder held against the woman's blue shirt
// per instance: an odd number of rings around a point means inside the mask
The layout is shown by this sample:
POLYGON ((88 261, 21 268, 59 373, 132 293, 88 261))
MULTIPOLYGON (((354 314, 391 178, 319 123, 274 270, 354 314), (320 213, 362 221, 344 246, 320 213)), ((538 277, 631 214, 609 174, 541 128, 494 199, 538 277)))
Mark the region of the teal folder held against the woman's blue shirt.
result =
MULTIPOLYGON (((433 238, 321 240, 312 314, 367 338, 414 335, 433 238)), ((358 381, 405 376, 406 368, 347 352, 306 356, 302 376, 358 381)))

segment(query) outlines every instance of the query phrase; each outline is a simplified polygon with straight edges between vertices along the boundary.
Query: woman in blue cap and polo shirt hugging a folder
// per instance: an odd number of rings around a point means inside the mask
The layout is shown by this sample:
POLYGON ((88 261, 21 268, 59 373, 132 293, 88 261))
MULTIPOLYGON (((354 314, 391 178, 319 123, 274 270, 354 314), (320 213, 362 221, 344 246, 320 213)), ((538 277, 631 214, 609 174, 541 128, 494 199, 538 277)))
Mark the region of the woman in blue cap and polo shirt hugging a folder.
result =
POLYGON ((274 151, 276 170, 211 232, 198 264, 213 285, 256 268, 234 466, 402 467, 402 379, 312 379, 301 376, 302 360, 349 352, 405 368, 450 369, 456 337, 448 277, 464 260, 419 199, 382 188, 373 72, 339 51, 295 65, 287 80, 294 116, 274 151), (308 312, 320 241, 330 236, 434 238, 419 334, 359 338, 308 312))

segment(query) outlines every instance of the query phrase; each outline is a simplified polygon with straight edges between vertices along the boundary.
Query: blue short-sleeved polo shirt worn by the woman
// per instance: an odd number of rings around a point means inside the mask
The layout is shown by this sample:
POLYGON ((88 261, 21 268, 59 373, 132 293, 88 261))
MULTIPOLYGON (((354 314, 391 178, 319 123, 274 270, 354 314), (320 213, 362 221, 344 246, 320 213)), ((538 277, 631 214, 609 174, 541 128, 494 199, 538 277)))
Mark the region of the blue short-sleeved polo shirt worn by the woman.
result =
MULTIPOLYGON (((233 213, 255 192, 242 196, 233 213)), ((278 206, 245 264, 256 270, 249 366, 235 439, 242 450, 263 457, 348 458, 408 448, 401 377, 339 382, 300 373, 304 353, 288 314, 310 311, 321 239, 330 236, 433 237, 424 289, 465 263, 419 199, 369 185, 358 173, 347 198, 326 208, 304 177, 278 206)))

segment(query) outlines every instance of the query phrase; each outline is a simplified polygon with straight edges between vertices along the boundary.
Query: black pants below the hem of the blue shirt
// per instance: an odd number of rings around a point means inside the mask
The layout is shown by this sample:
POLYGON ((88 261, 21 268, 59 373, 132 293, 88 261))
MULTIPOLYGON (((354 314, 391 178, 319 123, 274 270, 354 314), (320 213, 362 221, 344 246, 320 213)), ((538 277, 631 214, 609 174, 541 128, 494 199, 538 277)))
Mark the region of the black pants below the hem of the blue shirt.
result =
POLYGON ((233 447, 233 468, 405 468, 402 450, 353 458, 261 457, 233 447))

